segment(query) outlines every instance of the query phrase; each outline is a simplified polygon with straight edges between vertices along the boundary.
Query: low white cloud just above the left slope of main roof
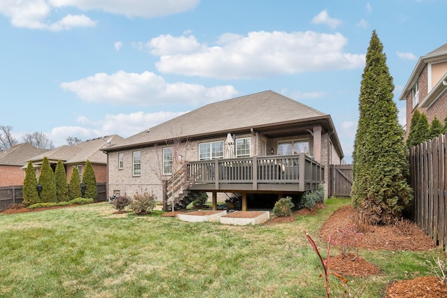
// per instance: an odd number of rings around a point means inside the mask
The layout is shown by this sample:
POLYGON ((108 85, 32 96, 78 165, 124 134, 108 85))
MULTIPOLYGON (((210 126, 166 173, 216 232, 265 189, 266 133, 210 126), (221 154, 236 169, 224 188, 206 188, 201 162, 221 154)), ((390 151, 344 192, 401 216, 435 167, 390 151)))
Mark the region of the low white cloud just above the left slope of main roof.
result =
POLYGON ((67 137, 78 137, 89 140, 105 135, 119 135, 130 137, 170 119, 178 117, 185 112, 134 112, 131 114, 107 114, 104 119, 90 120, 87 117, 78 117, 79 126, 59 126, 47 133, 56 147, 66 144, 67 137))

